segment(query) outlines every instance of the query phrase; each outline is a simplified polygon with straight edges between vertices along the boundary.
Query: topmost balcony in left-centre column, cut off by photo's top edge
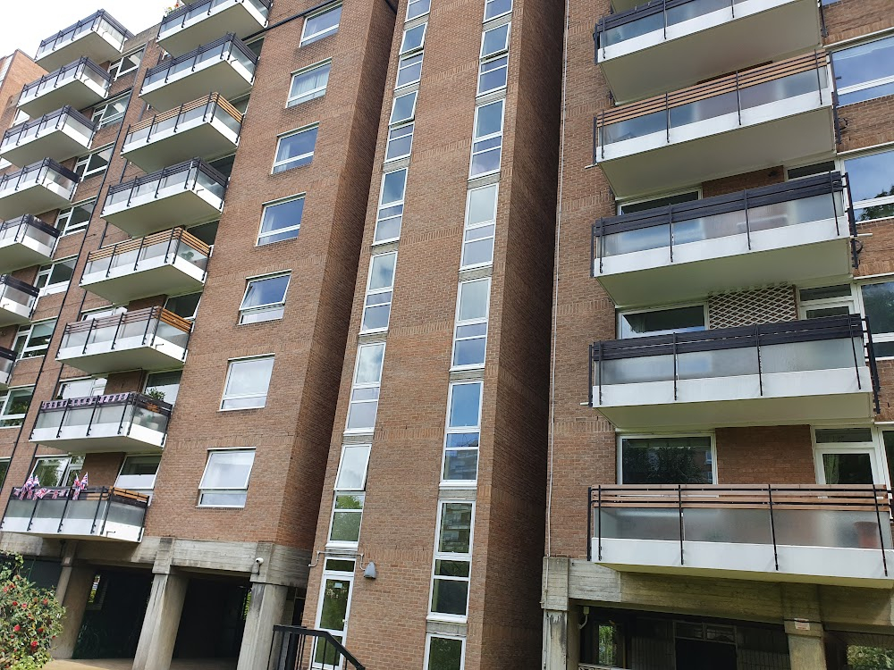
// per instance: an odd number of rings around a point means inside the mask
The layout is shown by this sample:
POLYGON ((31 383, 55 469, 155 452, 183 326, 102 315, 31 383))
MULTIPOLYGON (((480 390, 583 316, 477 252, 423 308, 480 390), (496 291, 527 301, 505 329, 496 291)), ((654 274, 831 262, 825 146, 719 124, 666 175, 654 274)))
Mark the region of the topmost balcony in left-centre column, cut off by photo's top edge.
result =
POLYGON ((173 56, 232 33, 247 38, 267 25, 270 0, 199 0, 167 14, 158 44, 173 56))

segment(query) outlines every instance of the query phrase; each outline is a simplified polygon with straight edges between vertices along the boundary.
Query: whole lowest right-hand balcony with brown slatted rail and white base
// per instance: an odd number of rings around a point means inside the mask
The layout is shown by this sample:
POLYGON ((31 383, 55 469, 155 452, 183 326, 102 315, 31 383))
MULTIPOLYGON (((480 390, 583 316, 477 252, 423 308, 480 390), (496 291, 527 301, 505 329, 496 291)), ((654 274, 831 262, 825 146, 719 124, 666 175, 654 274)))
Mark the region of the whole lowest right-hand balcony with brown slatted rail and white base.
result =
POLYGON ((890 589, 889 494, 871 484, 595 487, 588 557, 628 572, 890 589))

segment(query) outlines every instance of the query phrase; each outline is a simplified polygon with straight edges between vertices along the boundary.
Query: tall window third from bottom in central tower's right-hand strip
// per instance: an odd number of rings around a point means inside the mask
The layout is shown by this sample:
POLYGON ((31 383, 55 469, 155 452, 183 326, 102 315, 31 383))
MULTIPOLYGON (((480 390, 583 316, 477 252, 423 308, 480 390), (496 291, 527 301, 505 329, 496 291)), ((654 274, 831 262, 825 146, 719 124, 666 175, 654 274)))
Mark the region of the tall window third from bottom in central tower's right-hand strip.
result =
POLYGON ((469 485, 478 478, 478 438, 484 383, 452 383, 447 396, 442 483, 469 485))

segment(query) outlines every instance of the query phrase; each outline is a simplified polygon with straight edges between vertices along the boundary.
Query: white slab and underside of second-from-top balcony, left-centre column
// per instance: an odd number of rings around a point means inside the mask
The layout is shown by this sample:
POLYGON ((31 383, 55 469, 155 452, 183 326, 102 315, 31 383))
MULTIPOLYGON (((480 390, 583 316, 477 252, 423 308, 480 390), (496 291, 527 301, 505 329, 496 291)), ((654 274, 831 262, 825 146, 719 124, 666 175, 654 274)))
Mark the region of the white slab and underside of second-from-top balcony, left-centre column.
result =
POLYGON ((211 91, 232 100, 250 90, 251 75, 241 65, 230 61, 216 61, 193 72, 177 72, 171 75, 166 84, 161 81, 153 82, 144 87, 139 96, 159 112, 166 112, 211 91))

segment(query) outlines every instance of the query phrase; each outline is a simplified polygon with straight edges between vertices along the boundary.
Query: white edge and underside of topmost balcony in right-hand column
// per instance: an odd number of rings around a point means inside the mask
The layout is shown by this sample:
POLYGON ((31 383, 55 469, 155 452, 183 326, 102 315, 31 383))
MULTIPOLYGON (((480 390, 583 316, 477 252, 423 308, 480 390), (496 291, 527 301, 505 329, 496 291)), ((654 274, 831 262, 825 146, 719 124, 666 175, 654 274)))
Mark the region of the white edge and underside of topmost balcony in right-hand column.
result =
POLYGON ((615 99, 654 96, 820 44, 815 0, 745 0, 600 49, 615 99), (711 54, 705 58, 704 54, 711 54))

